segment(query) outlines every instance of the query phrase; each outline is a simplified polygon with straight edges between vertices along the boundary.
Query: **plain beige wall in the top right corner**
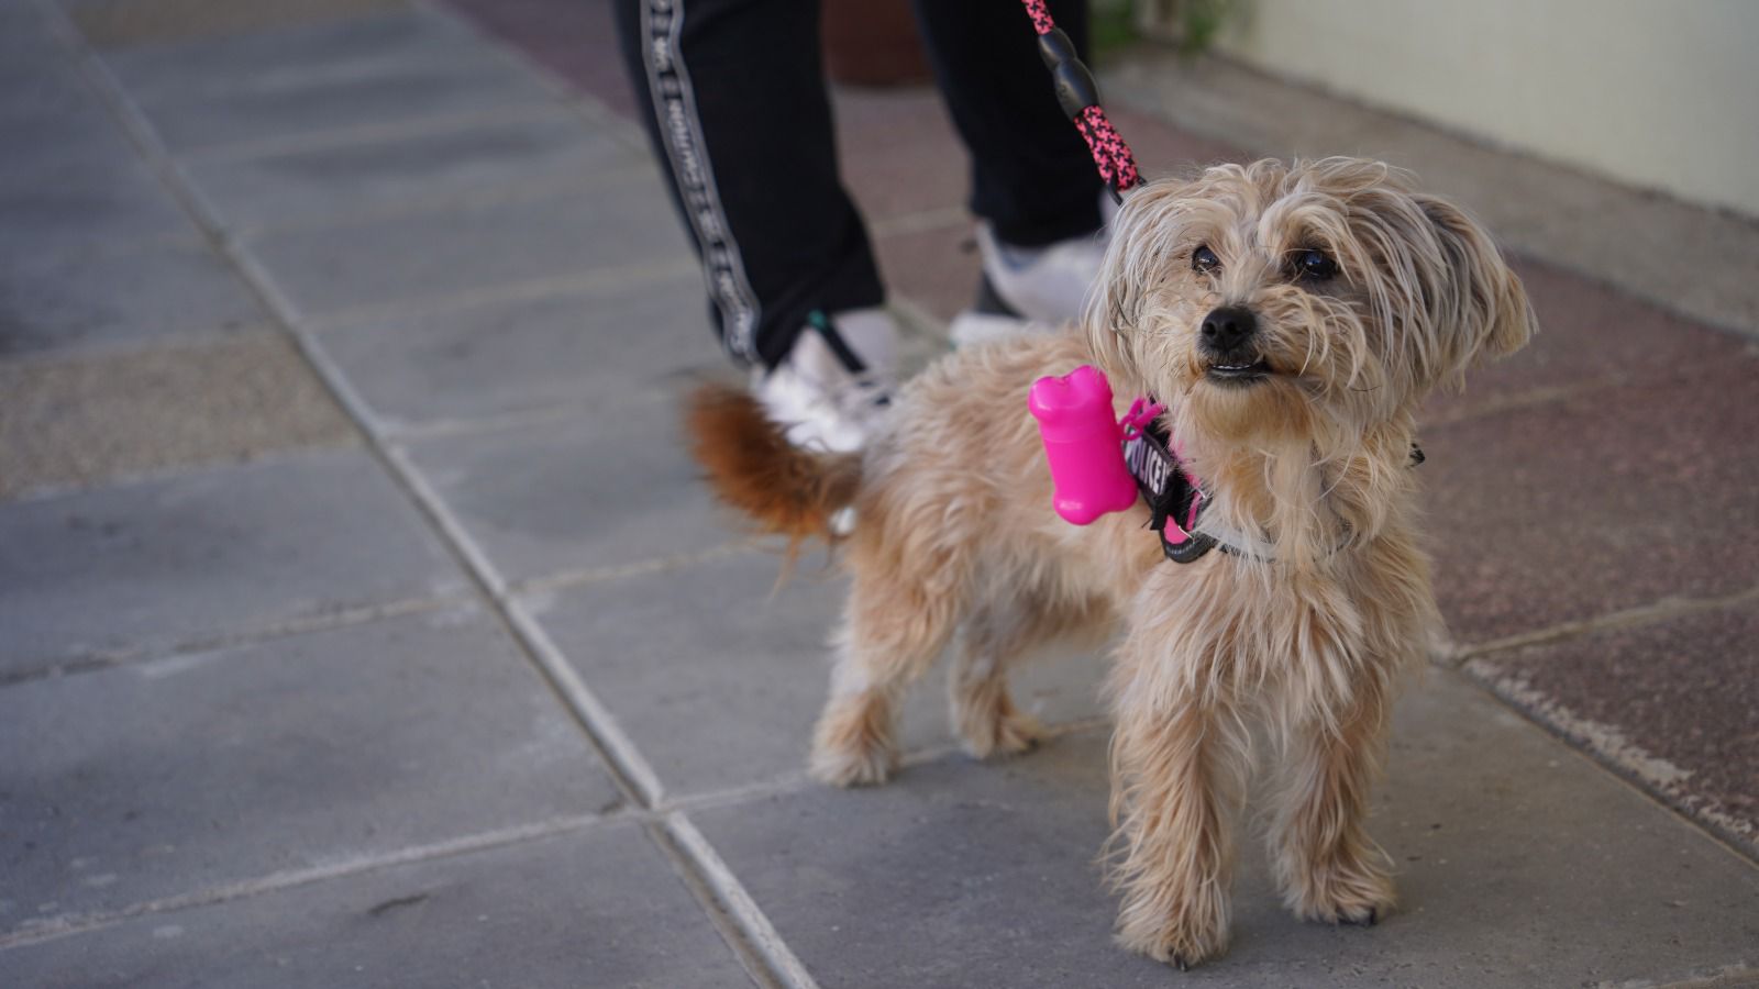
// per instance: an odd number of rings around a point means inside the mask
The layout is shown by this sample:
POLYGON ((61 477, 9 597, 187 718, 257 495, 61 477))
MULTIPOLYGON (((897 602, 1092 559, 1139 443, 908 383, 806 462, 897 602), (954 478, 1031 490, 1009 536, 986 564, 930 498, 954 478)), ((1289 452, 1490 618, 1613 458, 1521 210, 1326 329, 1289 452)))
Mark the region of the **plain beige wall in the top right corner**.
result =
POLYGON ((1219 48, 1759 216, 1759 0, 1238 0, 1219 48))

